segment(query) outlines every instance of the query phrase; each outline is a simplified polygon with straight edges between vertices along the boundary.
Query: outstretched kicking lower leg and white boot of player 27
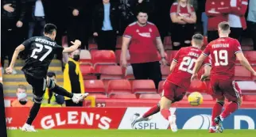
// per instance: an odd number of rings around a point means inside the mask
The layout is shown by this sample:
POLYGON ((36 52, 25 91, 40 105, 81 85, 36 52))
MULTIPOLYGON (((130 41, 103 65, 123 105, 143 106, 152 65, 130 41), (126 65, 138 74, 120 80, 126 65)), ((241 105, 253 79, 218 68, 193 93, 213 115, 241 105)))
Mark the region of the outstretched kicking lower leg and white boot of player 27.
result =
POLYGON ((79 103, 80 101, 83 101, 84 98, 86 98, 89 95, 89 93, 70 93, 66 89, 64 89, 60 86, 57 86, 55 84, 55 82, 52 81, 52 79, 48 78, 47 80, 48 80, 47 87, 49 89, 52 89, 52 91, 54 93, 57 93, 57 94, 62 95, 64 97, 72 98, 72 101, 76 104, 79 103))

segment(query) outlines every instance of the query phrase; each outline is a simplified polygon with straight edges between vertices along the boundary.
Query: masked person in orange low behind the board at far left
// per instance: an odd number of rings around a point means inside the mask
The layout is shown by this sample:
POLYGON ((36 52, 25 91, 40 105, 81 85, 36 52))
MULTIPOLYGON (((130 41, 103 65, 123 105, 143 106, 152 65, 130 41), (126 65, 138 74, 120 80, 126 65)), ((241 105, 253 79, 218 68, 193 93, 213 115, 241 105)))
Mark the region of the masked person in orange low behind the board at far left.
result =
POLYGON ((17 86, 17 99, 11 104, 12 107, 32 107, 33 102, 27 98, 27 88, 24 85, 17 86))

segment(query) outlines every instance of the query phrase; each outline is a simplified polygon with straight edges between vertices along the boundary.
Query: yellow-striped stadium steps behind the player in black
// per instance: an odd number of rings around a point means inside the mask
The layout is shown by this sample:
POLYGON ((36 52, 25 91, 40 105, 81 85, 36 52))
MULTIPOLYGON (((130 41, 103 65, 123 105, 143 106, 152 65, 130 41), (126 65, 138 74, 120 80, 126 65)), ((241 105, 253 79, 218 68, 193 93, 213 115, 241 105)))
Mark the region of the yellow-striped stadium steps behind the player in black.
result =
MULTIPOLYGON (((8 61, 6 61, 6 64, 7 63, 8 61)), ((26 82, 25 76, 21 71, 21 68, 24 66, 24 64, 25 60, 18 59, 17 63, 15 64, 15 70, 17 71, 17 74, 3 74, 3 89, 5 97, 15 97, 18 85, 25 85, 27 87, 27 93, 29 96, 32 96, 32 87, 29 85, 29 83, 26 82)), ((58 85, 63 86, 63 72, 61 66, 62 65, 60 60, 53 59, 48 70, 56 73, 58 85)))

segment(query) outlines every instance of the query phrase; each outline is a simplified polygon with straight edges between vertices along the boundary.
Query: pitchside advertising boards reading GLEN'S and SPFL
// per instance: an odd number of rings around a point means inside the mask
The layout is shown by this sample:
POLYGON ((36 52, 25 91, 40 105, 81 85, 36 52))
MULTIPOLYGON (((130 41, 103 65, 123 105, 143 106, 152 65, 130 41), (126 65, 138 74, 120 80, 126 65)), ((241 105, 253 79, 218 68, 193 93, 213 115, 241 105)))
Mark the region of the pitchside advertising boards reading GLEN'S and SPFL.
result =
MULTIPOLYGON (((41 108, 33 123, 37 129, 132 129, 134 113, 143 114, 149 108, 41 108)), ((25 123, 29 108, 6 108, 7 129, 17 130, 25 123)), ((177 108, 179 129, 208 129, 211 108, 177 108)), ((256 109, 242 108, 224 120, 226 129, 256 129, 256 109)), ((160 113, 137 129, 167 129, 169 123, 160 113)))

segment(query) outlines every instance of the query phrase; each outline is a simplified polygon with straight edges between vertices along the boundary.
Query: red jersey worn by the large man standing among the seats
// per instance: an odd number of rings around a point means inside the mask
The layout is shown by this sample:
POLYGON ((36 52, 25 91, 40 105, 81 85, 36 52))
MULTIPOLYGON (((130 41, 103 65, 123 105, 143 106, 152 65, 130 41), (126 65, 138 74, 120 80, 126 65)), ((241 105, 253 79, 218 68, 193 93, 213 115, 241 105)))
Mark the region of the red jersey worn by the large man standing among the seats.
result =
POLYGON ((147 25, 140 26, 137 22, 134 22, 128 25, 123 36, 131 38, 129 46, 130 63, 159 61, 156 39, 161 37, 156 25, 147 22, 147 25))

